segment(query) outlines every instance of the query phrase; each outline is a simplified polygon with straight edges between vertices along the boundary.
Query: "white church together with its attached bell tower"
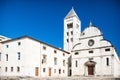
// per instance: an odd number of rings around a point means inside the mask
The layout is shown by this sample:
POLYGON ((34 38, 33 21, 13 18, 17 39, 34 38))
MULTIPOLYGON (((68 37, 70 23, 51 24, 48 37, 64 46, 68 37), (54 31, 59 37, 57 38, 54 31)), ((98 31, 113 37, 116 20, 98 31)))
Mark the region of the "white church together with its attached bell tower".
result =
POLYGON ((71 52, 69 75, 120 76, 120 60, 115 47, 103 38, 98 27, 81 31, 81 21, 72 8, 64 18, 64 49, 71 52))

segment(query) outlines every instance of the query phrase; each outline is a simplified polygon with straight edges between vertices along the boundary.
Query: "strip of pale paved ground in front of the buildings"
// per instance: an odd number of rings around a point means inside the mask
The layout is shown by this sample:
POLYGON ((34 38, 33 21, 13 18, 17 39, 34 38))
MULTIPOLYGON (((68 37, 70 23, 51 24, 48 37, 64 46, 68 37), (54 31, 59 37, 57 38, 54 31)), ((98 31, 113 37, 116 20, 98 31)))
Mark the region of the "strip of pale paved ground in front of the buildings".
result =
POLYGON ((67 77, 67 78, 0 78, 0 80, 120 80, 120 78, 113 78, 113 77, 67 77))

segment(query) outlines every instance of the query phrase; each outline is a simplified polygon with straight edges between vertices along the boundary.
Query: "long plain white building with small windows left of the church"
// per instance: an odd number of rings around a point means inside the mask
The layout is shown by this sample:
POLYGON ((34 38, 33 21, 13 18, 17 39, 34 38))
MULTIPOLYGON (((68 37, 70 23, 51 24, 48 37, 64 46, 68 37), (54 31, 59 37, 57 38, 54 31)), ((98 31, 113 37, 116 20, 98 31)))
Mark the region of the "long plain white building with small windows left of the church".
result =
POLYGON ((0 76, 66 77, 68 52, 29 36, 0 43, 0 76))

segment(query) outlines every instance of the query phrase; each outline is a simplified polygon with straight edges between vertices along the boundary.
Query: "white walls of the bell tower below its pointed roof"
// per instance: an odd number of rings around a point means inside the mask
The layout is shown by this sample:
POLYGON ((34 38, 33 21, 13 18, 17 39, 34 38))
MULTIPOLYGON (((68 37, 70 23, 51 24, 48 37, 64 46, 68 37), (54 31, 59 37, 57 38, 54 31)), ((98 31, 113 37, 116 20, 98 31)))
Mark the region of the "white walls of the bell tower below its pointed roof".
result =
POLYGON ((65 51, 71 52, 73 46, 76 43, 78 43, 80 37, 80 30, 81 30, 80 28, 81 28, 81 22, 75 16, 64 20, 64 50, 65 51), (72 28, 68 29, 67 25, 70 23, 73 23, 73 26, 72 28), (73 32, 73 34, 71 34, 71 31, 73 32))

